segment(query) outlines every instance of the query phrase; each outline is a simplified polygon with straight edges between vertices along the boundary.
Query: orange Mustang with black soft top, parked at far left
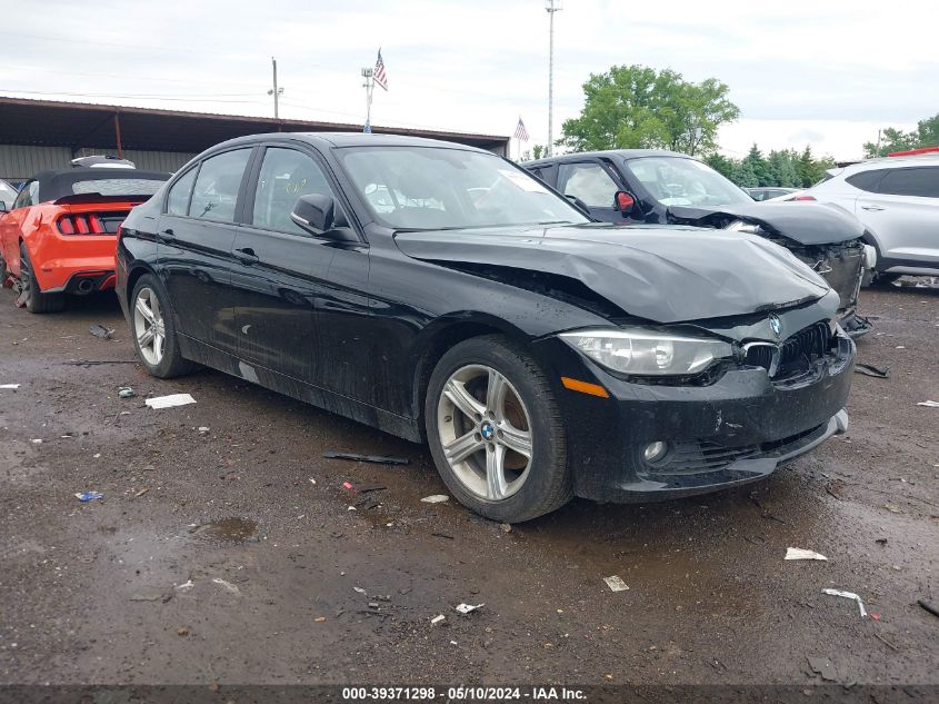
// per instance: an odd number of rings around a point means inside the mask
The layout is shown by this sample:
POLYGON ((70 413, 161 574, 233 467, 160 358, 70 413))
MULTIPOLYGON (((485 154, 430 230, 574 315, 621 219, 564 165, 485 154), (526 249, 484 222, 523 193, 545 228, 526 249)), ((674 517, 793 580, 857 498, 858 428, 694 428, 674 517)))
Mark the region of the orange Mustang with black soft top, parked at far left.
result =
POLYGON ((0 208, 0 281, 30 313, 64 307, 66 294, 114 287, 118 228, 170 177, 131 168, 42 171, 0 208))

